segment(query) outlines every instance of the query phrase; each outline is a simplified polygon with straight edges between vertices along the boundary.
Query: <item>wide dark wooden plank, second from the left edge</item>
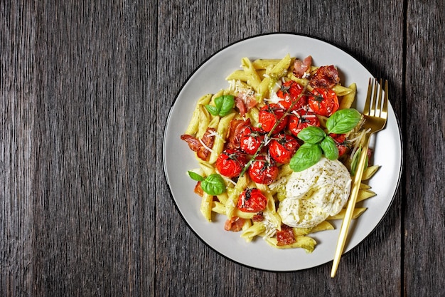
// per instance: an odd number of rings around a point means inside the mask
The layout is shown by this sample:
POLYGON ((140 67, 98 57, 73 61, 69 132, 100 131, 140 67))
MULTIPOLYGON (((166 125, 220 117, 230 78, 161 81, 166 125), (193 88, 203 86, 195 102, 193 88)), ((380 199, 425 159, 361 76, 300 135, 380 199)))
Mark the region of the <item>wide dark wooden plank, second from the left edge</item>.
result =
POLYGON ((37 10, 33 293, 154 295, 156 9, 37 10))

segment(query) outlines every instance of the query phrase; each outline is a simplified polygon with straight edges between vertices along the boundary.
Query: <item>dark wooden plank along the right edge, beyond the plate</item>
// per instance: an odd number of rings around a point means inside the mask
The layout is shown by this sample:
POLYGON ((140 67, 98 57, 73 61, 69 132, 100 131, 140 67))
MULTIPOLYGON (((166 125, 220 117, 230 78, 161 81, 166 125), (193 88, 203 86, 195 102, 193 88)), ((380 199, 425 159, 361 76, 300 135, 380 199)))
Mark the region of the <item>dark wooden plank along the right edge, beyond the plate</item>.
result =
POLYGON ((408 1, 405 296, 445 291, 443 1, 408 1))

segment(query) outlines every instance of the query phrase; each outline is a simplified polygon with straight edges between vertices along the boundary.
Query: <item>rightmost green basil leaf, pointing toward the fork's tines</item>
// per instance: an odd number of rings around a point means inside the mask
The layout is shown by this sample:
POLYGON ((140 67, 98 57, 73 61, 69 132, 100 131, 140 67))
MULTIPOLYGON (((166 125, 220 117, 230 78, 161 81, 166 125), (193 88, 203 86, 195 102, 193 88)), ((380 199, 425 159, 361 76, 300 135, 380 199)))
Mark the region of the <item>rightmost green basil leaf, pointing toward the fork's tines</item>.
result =
POLYGON ((326 127, 329 133, 344 134, 353 130, 360 118, 361 114, 353 108, 337 110, 326 121, 326 127))

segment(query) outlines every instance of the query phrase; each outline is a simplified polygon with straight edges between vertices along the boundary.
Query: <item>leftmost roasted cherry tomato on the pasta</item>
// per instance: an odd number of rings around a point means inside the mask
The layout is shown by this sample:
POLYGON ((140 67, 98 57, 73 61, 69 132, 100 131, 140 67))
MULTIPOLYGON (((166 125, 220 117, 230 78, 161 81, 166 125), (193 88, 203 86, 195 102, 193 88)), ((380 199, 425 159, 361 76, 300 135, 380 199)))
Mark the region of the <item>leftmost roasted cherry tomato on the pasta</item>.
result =
POLYGON ((247 157, 237 150, 225 150, 216 160, 216 168, 225 177, 237 177, 247 164, 247 157))

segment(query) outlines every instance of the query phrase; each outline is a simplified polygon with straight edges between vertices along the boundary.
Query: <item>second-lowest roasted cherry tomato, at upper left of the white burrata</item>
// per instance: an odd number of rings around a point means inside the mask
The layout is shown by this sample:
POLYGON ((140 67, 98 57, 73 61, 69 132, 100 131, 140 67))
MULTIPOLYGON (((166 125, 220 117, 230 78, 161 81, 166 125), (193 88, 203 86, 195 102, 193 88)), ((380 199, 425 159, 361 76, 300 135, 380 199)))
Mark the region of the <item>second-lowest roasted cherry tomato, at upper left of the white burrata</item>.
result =
POLYGON ((259 155, 249 167, 249 176, 258 184, 272 184, 279 174, 279 169, 269 156, 259 155))

